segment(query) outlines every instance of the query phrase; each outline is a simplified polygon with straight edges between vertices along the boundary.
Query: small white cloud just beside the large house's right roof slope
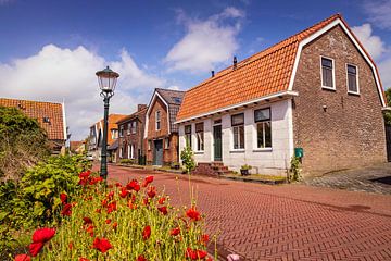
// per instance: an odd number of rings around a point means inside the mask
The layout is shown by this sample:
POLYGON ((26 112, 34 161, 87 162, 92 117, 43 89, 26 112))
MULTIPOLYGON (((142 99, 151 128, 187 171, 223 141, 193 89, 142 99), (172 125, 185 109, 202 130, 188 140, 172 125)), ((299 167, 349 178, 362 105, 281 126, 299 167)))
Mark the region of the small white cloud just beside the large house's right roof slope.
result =
POLYGON ((370 24, 363 24, 361 26, 352 27, 353 33, 358 40, 364 45, 364 48, 376 60, 386 51, 384 42, 379 36, 373 35, 370 24))

